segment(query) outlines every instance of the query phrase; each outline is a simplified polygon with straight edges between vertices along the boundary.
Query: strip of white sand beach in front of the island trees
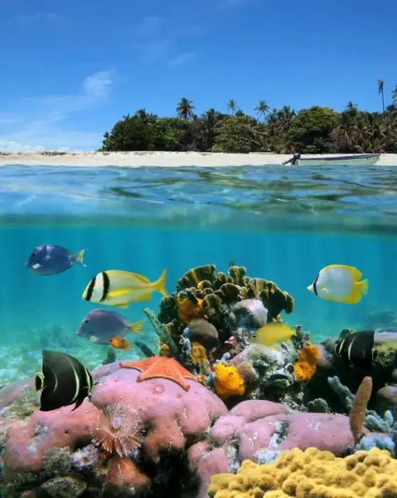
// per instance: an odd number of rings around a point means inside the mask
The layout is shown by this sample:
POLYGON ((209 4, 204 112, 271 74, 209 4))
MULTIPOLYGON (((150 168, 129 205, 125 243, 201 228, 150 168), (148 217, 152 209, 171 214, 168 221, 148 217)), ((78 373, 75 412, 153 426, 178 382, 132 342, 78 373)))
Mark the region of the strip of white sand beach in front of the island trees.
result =
MULTIPOLYGON (((213 154, 211 152, 21 152, 0 153, 0 166, 263 166, 281 164, 292 154, 213 154)), ((303 154, 306 157, 332 157, 338 154, 303 154)), ((340 154, 339 154, 340 155, 340 154)), ((349 154, 344 154, 349 155, 349 154)), ((378 166, 397 166, 397 154, 381 154, 378 166)))

